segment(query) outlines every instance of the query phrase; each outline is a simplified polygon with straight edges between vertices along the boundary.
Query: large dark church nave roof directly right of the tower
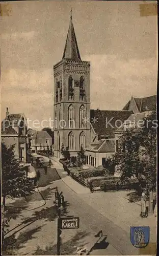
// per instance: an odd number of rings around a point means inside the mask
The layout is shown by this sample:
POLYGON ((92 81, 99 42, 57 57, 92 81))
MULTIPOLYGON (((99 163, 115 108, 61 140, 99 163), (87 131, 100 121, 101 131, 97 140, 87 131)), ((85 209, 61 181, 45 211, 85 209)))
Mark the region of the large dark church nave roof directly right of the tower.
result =
POLYGON ((131 114, 133 114, 132 111, 123 110, 91 110, 91 124, 96 134, 114 138, 114 132, 131 114))

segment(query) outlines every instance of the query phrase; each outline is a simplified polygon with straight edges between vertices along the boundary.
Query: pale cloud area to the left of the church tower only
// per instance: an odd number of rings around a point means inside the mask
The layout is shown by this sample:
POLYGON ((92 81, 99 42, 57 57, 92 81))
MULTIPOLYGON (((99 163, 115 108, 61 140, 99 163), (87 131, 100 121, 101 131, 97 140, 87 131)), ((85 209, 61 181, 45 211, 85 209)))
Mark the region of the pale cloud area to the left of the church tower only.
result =
POLYGON ((2 72, 2 117, 8 107, 10 113, 23 112, 32 120, 49 119, 53 115, 53 81, 51 69, 2 72))

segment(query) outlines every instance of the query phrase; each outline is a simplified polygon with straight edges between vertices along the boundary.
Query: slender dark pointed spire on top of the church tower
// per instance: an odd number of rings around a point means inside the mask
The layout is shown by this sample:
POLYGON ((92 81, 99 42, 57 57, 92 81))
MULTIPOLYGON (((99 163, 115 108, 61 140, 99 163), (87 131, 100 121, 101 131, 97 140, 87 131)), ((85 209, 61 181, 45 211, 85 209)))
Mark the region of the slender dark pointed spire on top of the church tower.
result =
POLYGON ((63 53, 63 59, 81 60, 80 51, 78 50, 77 40, 72 23, 72 8, 70 11, 70 24, 63 53))

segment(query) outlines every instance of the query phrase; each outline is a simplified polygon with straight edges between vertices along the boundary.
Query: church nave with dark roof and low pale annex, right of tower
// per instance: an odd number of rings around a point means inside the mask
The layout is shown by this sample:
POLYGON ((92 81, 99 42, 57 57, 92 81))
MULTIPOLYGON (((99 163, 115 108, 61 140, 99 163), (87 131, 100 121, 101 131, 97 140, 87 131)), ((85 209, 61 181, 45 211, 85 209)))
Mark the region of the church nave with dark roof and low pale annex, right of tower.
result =
POLYGON ((91 110, 91 143, 86 148, 86 164, 99 166, 115 153, 114 132, 132 111, 91 110))

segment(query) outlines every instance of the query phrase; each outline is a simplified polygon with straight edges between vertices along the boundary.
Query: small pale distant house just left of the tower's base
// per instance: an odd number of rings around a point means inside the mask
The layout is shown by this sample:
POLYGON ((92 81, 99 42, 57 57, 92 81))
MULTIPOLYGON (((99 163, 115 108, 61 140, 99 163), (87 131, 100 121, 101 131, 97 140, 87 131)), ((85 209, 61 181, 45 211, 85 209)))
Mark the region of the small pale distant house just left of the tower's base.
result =
POLYGON ((31 151, 33 153, 47 150, 47 147, 50 149, 52 138, 46 131, 30 130, 28 134, 30 137, 31 151))

